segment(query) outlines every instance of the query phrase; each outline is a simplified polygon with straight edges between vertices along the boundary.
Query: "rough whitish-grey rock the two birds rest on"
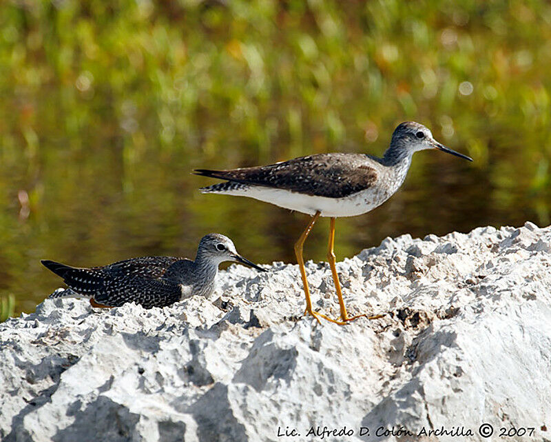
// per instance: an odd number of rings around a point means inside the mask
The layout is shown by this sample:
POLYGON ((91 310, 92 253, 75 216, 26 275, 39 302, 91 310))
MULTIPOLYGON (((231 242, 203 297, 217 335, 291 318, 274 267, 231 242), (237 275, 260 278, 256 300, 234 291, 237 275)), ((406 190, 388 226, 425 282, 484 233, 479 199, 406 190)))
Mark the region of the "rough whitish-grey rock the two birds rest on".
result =
MULTIPOLYGON (((232 266, 213 300, 164 309, 44 301, 0 324, 1 439, 483 441, 490 423, 551 440, 551 228, 387 238, 337 268, 351 313, 384 318, 298 320, 282 263, 232 266), (473 434, 417 435, 442 427, 473 434)), ((336 317, 328 265, 308 270, 336 317)))

